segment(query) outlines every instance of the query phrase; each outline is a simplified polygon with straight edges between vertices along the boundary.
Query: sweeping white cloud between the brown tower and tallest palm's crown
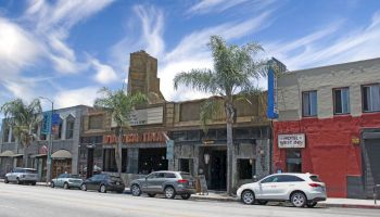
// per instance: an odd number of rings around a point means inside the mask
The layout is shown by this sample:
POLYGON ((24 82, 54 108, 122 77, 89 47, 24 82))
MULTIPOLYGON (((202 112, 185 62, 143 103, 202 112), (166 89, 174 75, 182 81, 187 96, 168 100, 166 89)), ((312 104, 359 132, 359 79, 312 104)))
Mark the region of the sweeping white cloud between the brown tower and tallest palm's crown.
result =
POLYGON ((203 92, 189 90, 185 87, 174 90, 173 79, 180 72, 191 68, 213 68, 211 51, 207 48, 210 36, 220 35, 226 40, 239 39, 249 34, 258 31, 271 24, 271 11, 242 23, 225 23, 218 26, 193 31, 186 36, 178 46, 168 52, 159 67, 159 77, 165 82, 161 85, 161 91, 168 100, 190 100, 208 97, 203 92))

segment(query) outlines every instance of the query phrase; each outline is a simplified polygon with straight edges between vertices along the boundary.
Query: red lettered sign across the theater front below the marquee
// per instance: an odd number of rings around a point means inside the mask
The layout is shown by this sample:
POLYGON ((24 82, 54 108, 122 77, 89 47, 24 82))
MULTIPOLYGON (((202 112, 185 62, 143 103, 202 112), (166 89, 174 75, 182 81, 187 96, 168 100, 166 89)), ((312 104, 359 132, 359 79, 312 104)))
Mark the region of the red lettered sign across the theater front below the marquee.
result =
MULTIPOLYGON (((143 133, 128 133, 123 135, 123 143, 150 143, 150 142, 165 142, 165 132, 143 132, 143 133)), ((115 144, 117 143, 117 137, 115 135, 103 136, 103 143, 115 144)))

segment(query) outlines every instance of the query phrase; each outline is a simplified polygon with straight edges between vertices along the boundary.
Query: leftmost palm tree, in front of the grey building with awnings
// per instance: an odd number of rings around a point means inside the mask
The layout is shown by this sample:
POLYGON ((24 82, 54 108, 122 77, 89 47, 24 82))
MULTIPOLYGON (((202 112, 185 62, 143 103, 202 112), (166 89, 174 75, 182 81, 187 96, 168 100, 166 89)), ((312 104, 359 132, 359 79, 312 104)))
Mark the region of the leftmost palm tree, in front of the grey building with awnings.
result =
POLYGON ((5 116, 5 123, 12 127, 14 138, 23 146, 23 164, 27 167, 26 149, 36 138, 33 130, 40 122, 38 114, 42 112, 41 103, 39 99, 33 100, 29 104, 25 104, 22 99, 16 99, 4 103, 0 111, 5 116))

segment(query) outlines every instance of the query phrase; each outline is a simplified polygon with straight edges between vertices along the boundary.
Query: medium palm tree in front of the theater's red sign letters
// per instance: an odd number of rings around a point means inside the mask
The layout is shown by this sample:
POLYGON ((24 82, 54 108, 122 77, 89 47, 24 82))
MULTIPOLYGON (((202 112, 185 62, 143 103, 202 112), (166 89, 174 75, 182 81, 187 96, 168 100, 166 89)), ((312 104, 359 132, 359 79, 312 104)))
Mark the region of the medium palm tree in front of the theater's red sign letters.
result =
POLYGON ((130 128, 129 115, 135 111, 135 106, 147 102, 147 97, 143 93, 137 92, 135 94, 126 93, 123 89, 112 91, 109 88, 102 88, 100 91, 102 98, 94 101, 94 107, 104 108, 111 114, 113 120, 116 123, 114 133, 117 137, 117 148, 115 149, 115 161, 118 175, 122 174, 122 145, 124 128, 130 128))

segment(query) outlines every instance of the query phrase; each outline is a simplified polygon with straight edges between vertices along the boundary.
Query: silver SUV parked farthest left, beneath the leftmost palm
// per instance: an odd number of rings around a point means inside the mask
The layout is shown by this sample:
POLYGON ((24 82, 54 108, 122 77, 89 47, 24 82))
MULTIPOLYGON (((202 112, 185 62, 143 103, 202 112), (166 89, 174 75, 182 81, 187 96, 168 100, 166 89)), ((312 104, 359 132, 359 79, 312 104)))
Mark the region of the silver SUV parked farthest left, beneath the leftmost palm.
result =
POLYGON ((31 186, 36 186, 38 180, 37 170, 33 168, 20 168, 15 167, 11 170, 11 173, 7 174, 4 177, 4 182, 16 182, 21 183, 31 183, 31 186))

